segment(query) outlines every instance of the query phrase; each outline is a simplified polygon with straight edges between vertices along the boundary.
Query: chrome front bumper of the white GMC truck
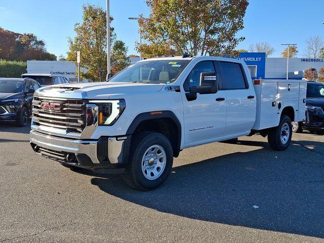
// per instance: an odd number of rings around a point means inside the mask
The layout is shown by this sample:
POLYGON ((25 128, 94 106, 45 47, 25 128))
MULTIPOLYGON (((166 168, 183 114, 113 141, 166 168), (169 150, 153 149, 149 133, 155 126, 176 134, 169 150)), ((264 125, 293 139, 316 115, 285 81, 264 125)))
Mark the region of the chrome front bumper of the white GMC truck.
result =
POLYGON ((102 173, 125 172, 130 136, 79 140, 30 131, 33 150, 47 158, 74 167, 102 173))

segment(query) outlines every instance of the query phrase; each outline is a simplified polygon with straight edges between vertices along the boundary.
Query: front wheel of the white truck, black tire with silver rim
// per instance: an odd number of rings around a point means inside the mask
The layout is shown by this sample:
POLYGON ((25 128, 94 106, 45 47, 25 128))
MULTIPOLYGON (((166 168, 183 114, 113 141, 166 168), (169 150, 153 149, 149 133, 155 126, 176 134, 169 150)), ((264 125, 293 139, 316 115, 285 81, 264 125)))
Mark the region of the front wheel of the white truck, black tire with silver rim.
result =
POLYGON ((148 191, 167 179, 173 164, 169 139, 155 132, 141 132, 132 137, 125 180, 135 189, 148 191))

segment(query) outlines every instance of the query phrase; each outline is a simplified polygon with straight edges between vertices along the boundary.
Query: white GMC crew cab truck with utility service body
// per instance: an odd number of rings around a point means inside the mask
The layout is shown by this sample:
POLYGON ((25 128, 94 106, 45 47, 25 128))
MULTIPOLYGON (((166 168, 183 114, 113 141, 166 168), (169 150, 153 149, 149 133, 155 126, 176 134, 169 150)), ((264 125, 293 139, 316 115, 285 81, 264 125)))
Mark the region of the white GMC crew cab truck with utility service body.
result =
POLYGON ((285 150, 305 102, 306 82, 252 80, 239 60, 152 58, 109 82, 38 89, 30 144, 65 167, 125 173, 132 187, 150 190, 188 147, 260 134, 285 150))

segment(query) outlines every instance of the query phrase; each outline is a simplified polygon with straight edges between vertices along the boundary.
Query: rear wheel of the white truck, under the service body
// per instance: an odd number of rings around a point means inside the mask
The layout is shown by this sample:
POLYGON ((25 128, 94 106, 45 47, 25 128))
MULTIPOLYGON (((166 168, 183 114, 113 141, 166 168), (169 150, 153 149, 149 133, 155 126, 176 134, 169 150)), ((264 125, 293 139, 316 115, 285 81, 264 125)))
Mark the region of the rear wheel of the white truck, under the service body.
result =
POLYGON ((288 148, 291 140, 292 121, 288 115, 284 115, 281 117, 279 125, 269 131, 268 143, 272 149, 283 151, 288 148))

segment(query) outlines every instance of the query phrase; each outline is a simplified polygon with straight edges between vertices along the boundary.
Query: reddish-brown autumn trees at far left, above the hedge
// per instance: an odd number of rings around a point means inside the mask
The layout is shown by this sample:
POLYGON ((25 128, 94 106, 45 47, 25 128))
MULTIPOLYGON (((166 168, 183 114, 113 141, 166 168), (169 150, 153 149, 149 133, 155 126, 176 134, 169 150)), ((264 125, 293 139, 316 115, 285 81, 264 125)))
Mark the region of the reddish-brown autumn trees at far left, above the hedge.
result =
POLYGON ((45 42, 32 33, 15 33, 0 27, 0 58, 5 60, 56 60, 45 42))

